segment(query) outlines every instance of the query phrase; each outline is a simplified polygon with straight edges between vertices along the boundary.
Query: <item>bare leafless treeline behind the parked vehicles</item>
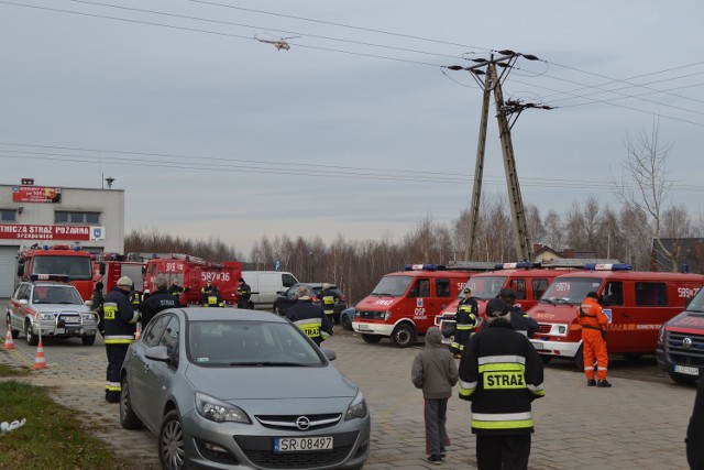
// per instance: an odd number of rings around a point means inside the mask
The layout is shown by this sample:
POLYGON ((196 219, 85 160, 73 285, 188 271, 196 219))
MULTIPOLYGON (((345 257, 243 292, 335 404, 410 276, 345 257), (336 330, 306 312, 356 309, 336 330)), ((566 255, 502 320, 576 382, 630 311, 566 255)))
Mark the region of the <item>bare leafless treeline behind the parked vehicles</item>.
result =
MULTIPOLYGON (((651 269, 652 221, 636 210, 600 206, 593 197, 574 203, 564 214, 549 210, 544 216, 535 206, 526 207, 530 240, 556 251, 592 252, 600 259, 617 259, 634 270, 651 269)), ((349 240, 339 234, 331 243, 320 237, 304 239, 264 236, 249 255, 221 240, 185 240, 156 230, 133 231, 125 237, 125 252, 189 253, 211 261, 241 261, 245 270, 290 271, 301 282, 331 282, 343 288, 351 302, 364 297, 386 273, 411 263, 447 263, 464 260, 469 210, 452 223, 438 223, 427 215, 403 238, 389 233, 381 240, 349 240)), ((684 207, 663 212, 661 238, 704 236, 701 217, 692 218, 684 207)), ((501 196, 484 197, 477 222, 475 256, 472 261, 517 261, 514 252, 512 216, 501 196)), ((657 266, 672 271, 672 265, 657 266)))

